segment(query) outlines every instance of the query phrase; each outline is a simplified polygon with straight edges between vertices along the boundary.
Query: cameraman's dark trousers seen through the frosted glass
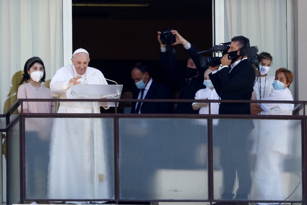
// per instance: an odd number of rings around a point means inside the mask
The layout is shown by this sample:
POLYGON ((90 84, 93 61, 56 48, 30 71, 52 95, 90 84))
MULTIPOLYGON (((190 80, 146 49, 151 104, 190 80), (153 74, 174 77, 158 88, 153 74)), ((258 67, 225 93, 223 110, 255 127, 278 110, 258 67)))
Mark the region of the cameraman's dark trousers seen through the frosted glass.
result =
POLYGON ((213 133, 213 144, 220 147, 223 169, 223 193, 225 200, 245 200, 250 193, 250 132, 254 128, 251 119, 219 119, 218 129, 213 133), (238 178, 239 188, 233 192, 238 178))

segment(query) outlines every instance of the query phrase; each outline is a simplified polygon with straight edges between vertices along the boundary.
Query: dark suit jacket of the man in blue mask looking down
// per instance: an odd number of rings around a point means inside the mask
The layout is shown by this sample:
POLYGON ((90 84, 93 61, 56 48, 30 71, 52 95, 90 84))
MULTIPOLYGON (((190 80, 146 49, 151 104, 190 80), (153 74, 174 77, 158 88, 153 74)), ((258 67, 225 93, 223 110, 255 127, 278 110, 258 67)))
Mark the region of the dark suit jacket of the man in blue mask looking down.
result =
MULTIPOLYGON (((138 99, 139 93, 140 89, 134 89, 132 99, 138 99)), ((170 99, 170 91, 167 86, 152 81, 144 99, 170 99)), ((131 113, 135 112, 136 104, 137 102, 132 102, 131 113)), ((143 102, 140 110, 143 114, 172 113, 173 111, 171 102, 143 102)))

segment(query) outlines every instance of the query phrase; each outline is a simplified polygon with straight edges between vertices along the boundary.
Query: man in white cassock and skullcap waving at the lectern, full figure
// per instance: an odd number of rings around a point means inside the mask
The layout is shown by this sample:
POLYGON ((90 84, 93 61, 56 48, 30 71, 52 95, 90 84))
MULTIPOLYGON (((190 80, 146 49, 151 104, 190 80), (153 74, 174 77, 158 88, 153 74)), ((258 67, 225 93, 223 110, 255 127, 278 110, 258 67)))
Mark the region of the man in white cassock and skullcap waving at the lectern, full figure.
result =
MULTIPOLYGON (((72 64, 58 69, 50 82, 54 96, 68 99, 71 87, 77 84, 107 84, 98 69, 88 67, 90 59, 86 50, 77 49, 71 60, 72 64)), ((57 113, 93 113, 93 107, 60 102, 57 113)), ((104 119, 56 120, 51 141, 49 198, 80 200, 68 202, 76 204, 86 203, 81 199, 110 198, 104 119)))

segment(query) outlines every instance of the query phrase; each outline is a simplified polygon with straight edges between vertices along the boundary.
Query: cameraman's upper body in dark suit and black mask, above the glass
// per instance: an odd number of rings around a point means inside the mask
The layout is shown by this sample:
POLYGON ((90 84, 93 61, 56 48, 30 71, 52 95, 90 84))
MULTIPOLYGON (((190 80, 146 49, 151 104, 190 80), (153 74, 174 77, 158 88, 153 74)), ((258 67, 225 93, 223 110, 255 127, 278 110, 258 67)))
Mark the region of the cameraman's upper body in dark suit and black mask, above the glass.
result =
MULTIPOLYGON (((250 100, 256 74, 247 60, 249 47, 248 38, 233 37, 221 59, 222 69, 210 67, 209 77, 221 100, 250 100)), ((218 114, 250 114, 250 103, 221 103, 218 114)))

